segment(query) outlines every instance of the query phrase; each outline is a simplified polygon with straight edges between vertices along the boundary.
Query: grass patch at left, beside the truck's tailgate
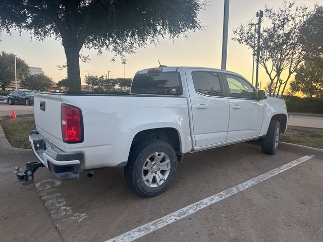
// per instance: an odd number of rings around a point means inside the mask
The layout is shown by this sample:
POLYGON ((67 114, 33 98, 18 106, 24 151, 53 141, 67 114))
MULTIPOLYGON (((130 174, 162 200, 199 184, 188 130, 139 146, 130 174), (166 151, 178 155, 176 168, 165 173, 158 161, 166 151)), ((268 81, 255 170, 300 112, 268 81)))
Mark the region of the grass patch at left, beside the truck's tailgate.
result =
POLYGON ((18 117, 17 119, 0 120, 7 140, 16 148, 31 149, 29 143, 29 132, 35 130, 34 117, 18 117))

